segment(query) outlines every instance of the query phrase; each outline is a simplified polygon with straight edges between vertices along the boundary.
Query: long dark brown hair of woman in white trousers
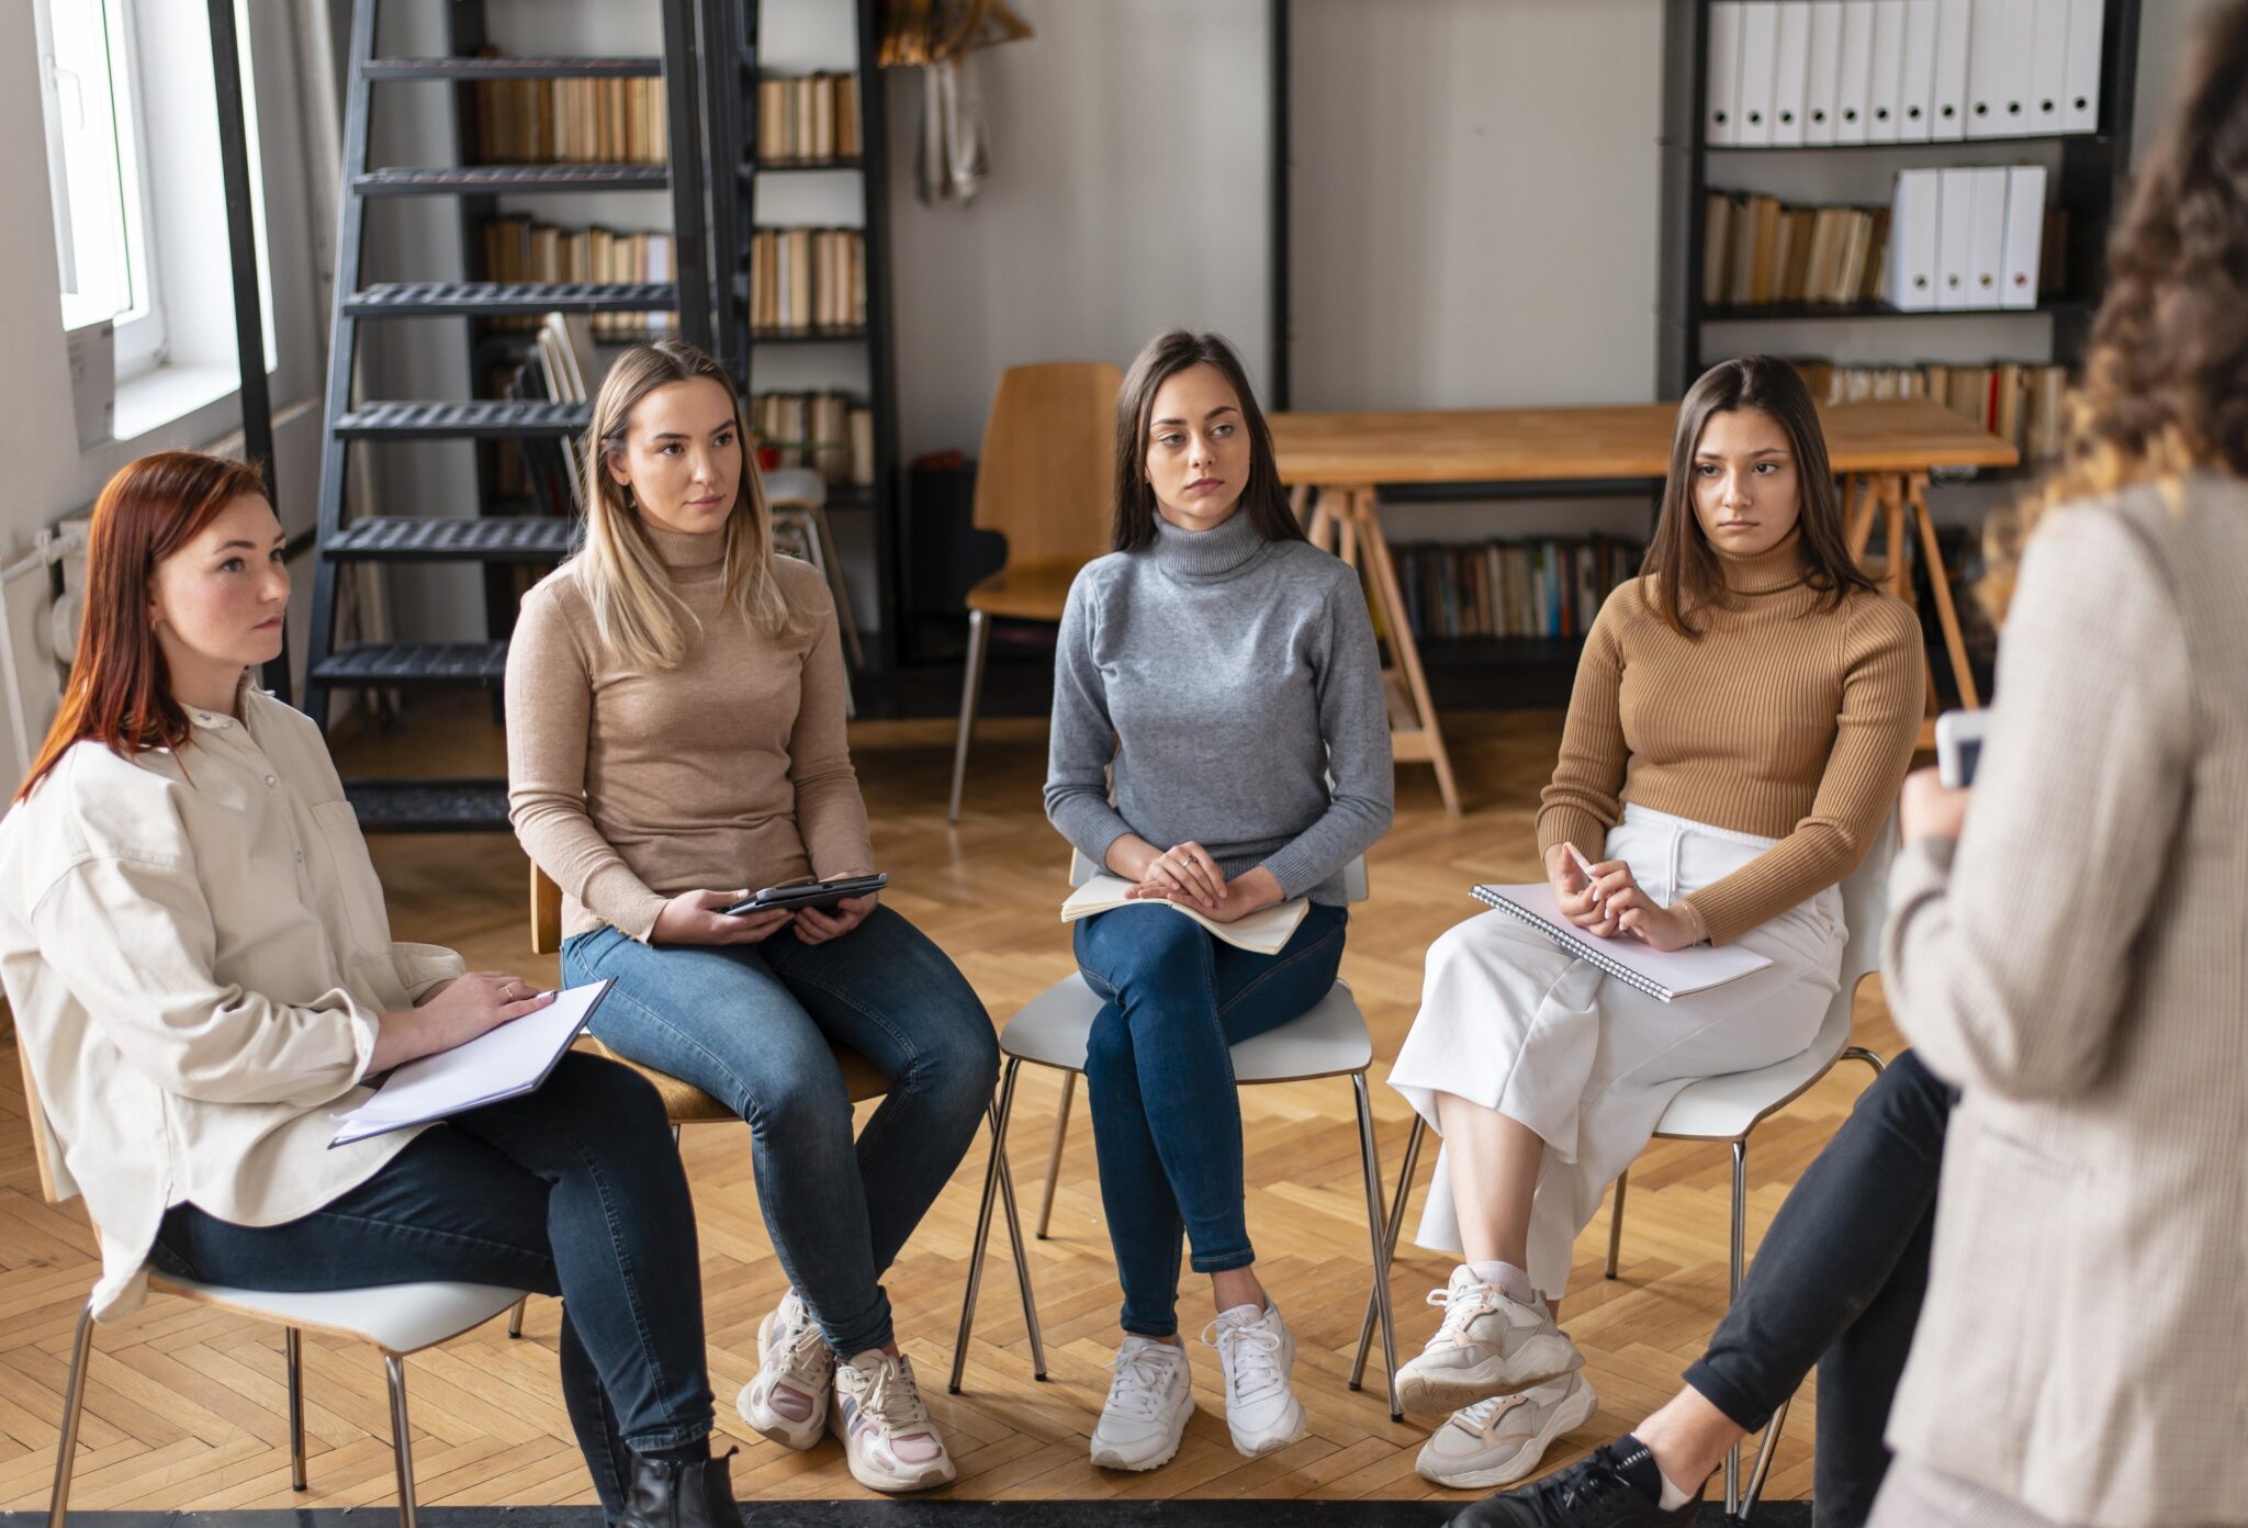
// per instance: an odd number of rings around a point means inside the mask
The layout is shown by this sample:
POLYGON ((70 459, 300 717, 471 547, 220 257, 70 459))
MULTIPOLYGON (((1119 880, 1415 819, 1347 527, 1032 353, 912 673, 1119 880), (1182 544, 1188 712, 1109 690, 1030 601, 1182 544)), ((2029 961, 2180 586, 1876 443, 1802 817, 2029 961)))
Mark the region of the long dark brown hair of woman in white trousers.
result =
POLYGON ((1803 386, 1803 375, 1778 357, 1742 355, 1704 371, 1679 402, 1664 508, 1648 544, 1650 577, 1639 580, 1639 598, 1686 636, 1699 634, 1690 611, 1724 600, 1724 571, 1693 512, 1693 454, 1711 416, 1733 409, 1769 413, 1787 434, 1787 449, 1796 458, 1796 555, 1803 562, 1803 582, 1828 595, 1828 609, 1841 604, 1852 589, 1875 589, 1850 560, 1825 431, 1819 429, 1819 409, 1803 386))

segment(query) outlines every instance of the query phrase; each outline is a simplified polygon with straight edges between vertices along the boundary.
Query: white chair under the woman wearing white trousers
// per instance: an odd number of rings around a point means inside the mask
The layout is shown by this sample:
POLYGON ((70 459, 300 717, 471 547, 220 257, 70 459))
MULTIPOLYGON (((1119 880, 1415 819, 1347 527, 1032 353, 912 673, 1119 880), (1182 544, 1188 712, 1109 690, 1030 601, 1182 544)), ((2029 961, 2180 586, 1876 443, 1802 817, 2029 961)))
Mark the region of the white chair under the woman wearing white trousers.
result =
MULTIPOLYGON (((1882 1058, 1861 1045, 1850 1045, 1850 1009, 1857 984, 1882 968, 1882 930, 1888 926, 1888 861, 1897 854, 1897 820, 1882 825, 1882 836, 1866 852, 1864 863, 1841 883, 1843 928, 1848 937, 1841 951, 1841 986, 1828 1004, 1819 1034, 1807 1047, 1753 1072, 1726 1072, 1688 1083, 1670 1099, 1661 1121, 1655 1126, 1659 1142, 1726 1142, 1733 1148, 1733 1240, 1731 1267, 1726 1272, 1724 1303, 1731 1308, 1740 1297, 1740 1281, 1747 1272, 1747 1213, 1749 1213, 1749 1133, 1758 1124, 1778 1115, 1819 1083, 1837 1061, 1864 1061, 1879 1076, 1882 1058)), ((1421 1164, 1421 1142, 1427 1137, 1427 1121, 1414 1115, 1412 1135, 1405 1137, 1405 1162, 1398 1171, 1396 1200, 1389 1204, 1389 1225, 1383 1231, 1383 1270, 1396 1256, 1398 1231, 1405 1225, 1405 1195, 1412 1193, 1412 1175, 1421 1164)), ((1630 1171, 1616 1175, 1614 1211, 1607 1222, 1607 1276, 1616 1276, 1616 1258, 1623 1252, 1623 1191, 1630 1171)), ((1387 1276, 1376 1281, 1376 1292, 1387 1301, 1387 1276)), ((1385 1315, 1387 1319, 1387 1315, 1385 1315)), ((1351 1359, 1351 1389, 1360 1386, 1367 1371, 1367 1344, 1374 1330, 1374 1301, 1367 1301, 1367 1317, 1358 1328, 1358 1355, 1351 1359)), ((1392 1368, 1394 1368, 1392 1359, 1392 1368)), ((1396 1393, 1396 1377, 1389 1380, 1396 1393)), ((1771 1416, 1765 1440, 1756 1449, 1756 1470, 1749 1479, 1747 1499, 1740 1494, 1740 1449, 1724 1458, 1724 1512, 1726 1521, 1747 1521, 1756 1510, 1756 1497, 1765 1490, 1771 1458, 1787 1427, 1787 1402, 1771 1416)))

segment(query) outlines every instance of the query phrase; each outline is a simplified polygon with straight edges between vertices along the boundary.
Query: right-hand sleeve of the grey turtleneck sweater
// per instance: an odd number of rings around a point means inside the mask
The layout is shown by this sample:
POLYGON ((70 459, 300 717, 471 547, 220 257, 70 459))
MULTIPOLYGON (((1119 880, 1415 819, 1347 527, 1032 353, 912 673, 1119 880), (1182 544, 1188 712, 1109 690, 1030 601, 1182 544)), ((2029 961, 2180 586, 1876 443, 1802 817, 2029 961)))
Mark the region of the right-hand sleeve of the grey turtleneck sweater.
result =
POLYGON ((1389 708, 1374 620, 1358 580, 1335 571, 1326 591, 1317 654, 1320 737, 1326 742, 1326 811, 1284 843, 1263 867, 1281 897, 1302 897, 1389 831, 1396 766, 1389 760, 1389 708))

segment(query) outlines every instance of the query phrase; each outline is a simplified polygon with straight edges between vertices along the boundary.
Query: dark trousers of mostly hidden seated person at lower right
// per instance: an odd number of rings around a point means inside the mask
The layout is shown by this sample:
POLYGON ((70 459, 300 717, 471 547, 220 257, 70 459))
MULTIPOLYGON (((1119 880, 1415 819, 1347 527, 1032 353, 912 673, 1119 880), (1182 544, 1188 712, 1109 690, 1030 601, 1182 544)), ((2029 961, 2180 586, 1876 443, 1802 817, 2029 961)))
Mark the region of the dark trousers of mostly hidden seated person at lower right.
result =
POLYGON ((1929 1290, 1936 1177, 1958 1090, 1904 1052, 1787 1191, 1686 1384, 1762 1427, 1819 1366, 1812 1501, 1857 1528, 1888 1470, 1888 1404, 1929 1290))

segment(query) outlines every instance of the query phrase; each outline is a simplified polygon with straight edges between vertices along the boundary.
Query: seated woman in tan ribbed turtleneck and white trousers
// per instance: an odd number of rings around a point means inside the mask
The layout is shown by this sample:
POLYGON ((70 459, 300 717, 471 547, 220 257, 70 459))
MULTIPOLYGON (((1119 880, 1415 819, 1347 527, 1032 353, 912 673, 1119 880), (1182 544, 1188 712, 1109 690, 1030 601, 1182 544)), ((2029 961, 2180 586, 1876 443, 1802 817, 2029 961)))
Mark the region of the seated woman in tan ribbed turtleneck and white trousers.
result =
POLYGON ((1771 964, 1659 1002, 1502 912, 1430 948, 1389 1083, 1445 1137, 1418 1240, 1466 1261, 1398 1371, 1407 1407, 1459 1407, 1421 1474, 1504 1485, 1592 1416, 1556 1326, 1569 1245, 1679 1088, 1810 1045, 1839 984, 1837 883, 1897 800, 1922 672, 1913 611, 1850 562, 1794 366, 1711 369, 1679 404, 1648 569, 1585 640, 1538 847, 1585 933, 1771 964))

